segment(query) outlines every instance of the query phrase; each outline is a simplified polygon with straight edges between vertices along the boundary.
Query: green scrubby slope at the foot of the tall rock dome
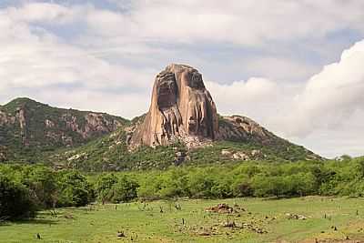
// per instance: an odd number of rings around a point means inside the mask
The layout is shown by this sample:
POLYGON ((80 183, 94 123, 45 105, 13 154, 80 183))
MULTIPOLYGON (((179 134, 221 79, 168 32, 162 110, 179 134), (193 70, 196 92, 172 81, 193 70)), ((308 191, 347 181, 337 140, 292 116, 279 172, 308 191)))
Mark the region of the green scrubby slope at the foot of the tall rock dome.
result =
POLYGON ((187 149, 183 143, 159 147, 137 147, 130 151, 126 132, 118 129, 111 135, 94 139, 81 147, 60 149, 43 160, 48 165, 84 171, 127 171, 166 169, 171 166, 240 163, 248 161, 292 162, 314 157, 304 147, 282 140, 277 145, 262 146, 253 141, 216 141, 210 146, 187 149), (224 151, 228 153, 224 154, 224 151), (234 155, 240 157, 233 157, 234 155))

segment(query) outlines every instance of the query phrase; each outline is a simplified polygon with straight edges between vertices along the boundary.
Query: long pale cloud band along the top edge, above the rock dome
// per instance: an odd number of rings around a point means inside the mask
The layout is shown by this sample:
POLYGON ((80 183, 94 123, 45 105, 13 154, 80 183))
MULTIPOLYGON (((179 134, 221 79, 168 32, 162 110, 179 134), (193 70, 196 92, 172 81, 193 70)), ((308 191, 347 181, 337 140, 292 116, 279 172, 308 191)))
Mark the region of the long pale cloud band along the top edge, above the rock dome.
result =
POLYGON ((87 21, 96 32, 108 36, 259 46, 273 40, 318 38, 347 27, 363 31, 363 7, 360 0, 350 4, 339 0, 136 0, 125 14, 94 13, 87 21), (103 22, 109 24, 106 29, 99 28, 103 22))

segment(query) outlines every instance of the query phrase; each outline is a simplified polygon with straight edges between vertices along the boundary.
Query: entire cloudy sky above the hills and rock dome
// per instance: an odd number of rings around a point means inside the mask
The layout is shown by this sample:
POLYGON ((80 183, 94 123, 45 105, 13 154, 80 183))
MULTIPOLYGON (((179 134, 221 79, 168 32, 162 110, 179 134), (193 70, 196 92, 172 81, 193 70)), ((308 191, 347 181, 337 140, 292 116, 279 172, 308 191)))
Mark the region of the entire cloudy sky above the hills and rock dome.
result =
POLYGON ((0 0, 0 104, 132 118, 170 63, 222 115, 324 157, 364 155, 362 0, 0 0))

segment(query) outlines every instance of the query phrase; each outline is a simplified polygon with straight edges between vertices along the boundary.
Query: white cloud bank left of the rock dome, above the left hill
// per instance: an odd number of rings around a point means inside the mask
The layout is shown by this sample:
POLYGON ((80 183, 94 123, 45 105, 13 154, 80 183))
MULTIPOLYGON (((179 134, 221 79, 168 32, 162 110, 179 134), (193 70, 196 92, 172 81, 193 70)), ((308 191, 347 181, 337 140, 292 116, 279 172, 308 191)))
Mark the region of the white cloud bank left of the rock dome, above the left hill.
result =
POLYGON ((111 64, 33 25, 69 23, 74 12, 54 4, 0 10, 1 101, 31 96, 54 106, 138 115, 147 108, 139 102, 146 101, 154 70, 111 64))

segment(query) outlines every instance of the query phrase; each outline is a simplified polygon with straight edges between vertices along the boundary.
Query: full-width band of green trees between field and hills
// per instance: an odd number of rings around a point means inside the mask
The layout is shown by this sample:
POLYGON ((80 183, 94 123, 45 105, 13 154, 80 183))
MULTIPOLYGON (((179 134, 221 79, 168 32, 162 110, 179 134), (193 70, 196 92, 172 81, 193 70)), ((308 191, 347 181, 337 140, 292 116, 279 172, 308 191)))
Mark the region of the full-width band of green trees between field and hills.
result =
POLYGON ((292 163, 242 162, 85 174, 40 165, 0 166, 0 221, 37 210, 174 197, 364 197, 364 157, 292 163))

